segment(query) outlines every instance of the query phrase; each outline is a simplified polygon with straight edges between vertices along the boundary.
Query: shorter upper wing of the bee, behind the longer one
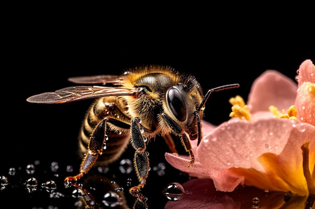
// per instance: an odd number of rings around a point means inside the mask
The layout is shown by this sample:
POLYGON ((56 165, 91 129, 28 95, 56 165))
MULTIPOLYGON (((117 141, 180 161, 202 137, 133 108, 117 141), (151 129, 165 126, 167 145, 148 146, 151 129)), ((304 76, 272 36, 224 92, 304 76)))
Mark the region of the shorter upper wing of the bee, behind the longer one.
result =
POLYGON ((96 75, 96 76, 81 76, 68 78, 68 81, 77 84, 113 84, 120 85, 123 83, 123 78, 118 75, 96 75))

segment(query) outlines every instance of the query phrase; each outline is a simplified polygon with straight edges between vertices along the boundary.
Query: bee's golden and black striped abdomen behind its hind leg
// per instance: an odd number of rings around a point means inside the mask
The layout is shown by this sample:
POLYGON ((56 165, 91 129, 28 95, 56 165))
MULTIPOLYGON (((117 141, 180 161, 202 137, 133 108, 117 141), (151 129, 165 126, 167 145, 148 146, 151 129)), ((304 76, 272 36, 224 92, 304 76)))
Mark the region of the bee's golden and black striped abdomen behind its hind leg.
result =
POLYGON ((82 156, 87 153, 95 127, 105 118, 113 118, 115 123, 106 124, 106 146, 97 163, 110 163, 122 154, 130 140, 130 119, 123 110, 122 102, 117 97, 102 97, 90 106, 78 138, 82 156))

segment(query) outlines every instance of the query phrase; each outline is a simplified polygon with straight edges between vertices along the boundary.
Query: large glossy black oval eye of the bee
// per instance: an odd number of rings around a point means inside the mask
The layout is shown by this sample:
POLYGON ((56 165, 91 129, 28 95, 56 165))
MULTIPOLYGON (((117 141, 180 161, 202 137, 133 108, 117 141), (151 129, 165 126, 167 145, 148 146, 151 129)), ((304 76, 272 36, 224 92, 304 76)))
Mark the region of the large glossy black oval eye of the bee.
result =
POLYGON ((168 105, 179 121, 186 120, 186 106, 181 92, 177 88, 171 88, 167 95, 168 105))

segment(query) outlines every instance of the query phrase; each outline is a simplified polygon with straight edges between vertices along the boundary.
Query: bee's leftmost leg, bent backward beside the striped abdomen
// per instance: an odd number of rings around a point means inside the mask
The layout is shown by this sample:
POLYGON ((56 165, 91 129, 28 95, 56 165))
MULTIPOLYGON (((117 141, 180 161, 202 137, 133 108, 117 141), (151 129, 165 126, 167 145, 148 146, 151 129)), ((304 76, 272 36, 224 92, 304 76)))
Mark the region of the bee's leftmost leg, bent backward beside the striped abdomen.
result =
POLYGON ((106 132, 106 122, 108 118, 104 118, 95 128, 89 142, 88 151, 82 160, 80 171, 75 176, 68 176, 64 179, 65 182, 78 180, 85 173, 87 173, 91 167, 95 164, 99 155, 102 154, 103 147, 105 144, 105 132, 106 132))

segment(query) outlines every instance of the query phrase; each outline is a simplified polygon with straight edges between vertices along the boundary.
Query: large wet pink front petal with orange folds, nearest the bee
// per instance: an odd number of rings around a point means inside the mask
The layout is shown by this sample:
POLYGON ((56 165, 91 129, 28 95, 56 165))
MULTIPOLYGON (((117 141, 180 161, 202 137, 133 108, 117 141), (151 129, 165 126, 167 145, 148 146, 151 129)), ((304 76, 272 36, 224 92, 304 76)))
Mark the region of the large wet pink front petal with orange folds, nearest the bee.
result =
MULTIPOLYGON (((307 123, 292 123, 292 120, 279 118, 230 120, 203 138, 193 167, 187 169, 189 160, 180 156, 166 154, 166 159, 184 172, 209 176, 221 191, 232 191, 241 183, 281 191, 290 187, 303 193, 306 182, 291 177, 303 176, 300 146, 305 140, 310 141, 310 153, 314 154, 315 127, 307 123), (273 173, 272 169, 277 172, 273 173), (274 183, 279 181, 277 178, 284 180, 277 185, 274 183)), ((309 164, 314 163, 315 157, 310 158, 309 164)), ((310 169, 312 172, 313 167, 310 169)))

